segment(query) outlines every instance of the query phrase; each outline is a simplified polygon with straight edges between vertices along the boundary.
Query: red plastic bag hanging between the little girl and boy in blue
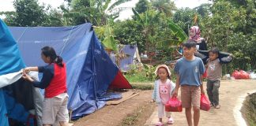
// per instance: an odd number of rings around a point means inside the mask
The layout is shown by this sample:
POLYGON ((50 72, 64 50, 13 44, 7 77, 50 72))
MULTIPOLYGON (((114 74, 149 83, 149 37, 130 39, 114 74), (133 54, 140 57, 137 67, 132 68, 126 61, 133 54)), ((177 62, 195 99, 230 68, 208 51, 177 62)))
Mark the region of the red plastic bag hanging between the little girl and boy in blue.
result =
POLYGON ((165 111, 167 112, 182 112, 183 106, 177 97, 170 98, 165 104, 165 111))

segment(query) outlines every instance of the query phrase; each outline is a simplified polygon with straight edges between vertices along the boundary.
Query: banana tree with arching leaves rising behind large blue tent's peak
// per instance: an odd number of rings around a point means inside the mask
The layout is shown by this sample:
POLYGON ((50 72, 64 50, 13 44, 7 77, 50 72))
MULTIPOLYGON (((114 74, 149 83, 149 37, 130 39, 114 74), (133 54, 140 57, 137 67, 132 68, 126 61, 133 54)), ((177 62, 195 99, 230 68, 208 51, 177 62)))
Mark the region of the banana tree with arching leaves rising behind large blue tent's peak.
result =
POLYGON ((70 2, 70 11, 64 13, 64 17, 72 18, 74 24, 90 22, 93 25, 106 25, 108 19, 119 17, 119 12, 126 8, 115 9, 116 6, 130 0, 117 0, 111 4, 111 0, 73 0, 70 2), (113 9, 117 10, 115 13, 113 9))

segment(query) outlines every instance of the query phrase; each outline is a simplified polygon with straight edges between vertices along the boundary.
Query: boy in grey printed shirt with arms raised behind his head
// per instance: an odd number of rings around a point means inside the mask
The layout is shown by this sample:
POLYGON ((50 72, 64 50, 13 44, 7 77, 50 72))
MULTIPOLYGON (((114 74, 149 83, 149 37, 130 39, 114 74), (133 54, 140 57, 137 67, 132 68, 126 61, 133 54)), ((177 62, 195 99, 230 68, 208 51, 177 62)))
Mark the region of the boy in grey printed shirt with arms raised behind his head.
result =
POLYGON ((209 50, 209 59, 207 60, 207 95, 211 106, 220 109, 219 104, 219 87, 222 76, 222 64, 227 64, 232 61, 232 55, 219 58, 220 51, 217 48, 209 50))

